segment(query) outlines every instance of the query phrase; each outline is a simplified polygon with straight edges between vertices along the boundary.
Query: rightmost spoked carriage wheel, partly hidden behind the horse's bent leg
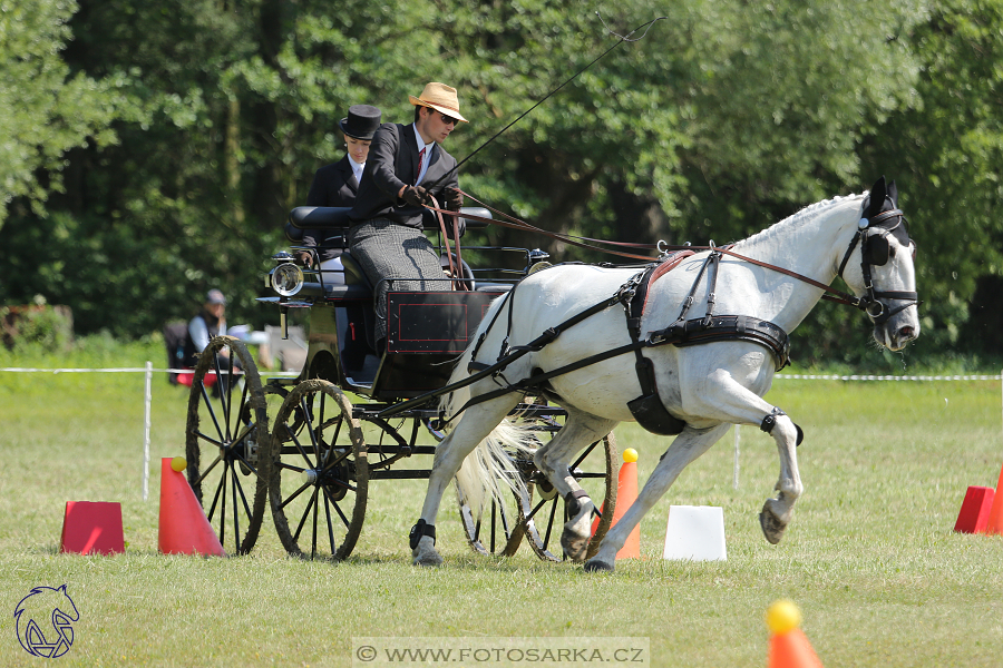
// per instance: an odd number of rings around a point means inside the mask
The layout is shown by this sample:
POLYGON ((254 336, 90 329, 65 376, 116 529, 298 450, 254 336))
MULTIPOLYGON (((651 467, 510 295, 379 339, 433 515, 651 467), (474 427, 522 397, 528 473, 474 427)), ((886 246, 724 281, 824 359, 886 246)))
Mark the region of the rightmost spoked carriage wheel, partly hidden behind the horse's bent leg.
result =
MULTIPOLYGON (((568 466, 578 484, 588 492, 596 509, 602 509, 602 518, 597 518, 598 523, 594 524, 595 531, 588 543, 586 559, 591 559, 598 551, 600 543, 613 522, 613 510, 616 505, 614 473, 616 454, 616 440, 613 432, 610 432, 605 439, 581 452, 568 466)), ((541 559, 561 561, 564 557, 561 550, 561 532, 569 519, 564 499, 535 469, 527 489, 529 498, 519 503, 519 525, 525 529, 526 541, 541 559)))

